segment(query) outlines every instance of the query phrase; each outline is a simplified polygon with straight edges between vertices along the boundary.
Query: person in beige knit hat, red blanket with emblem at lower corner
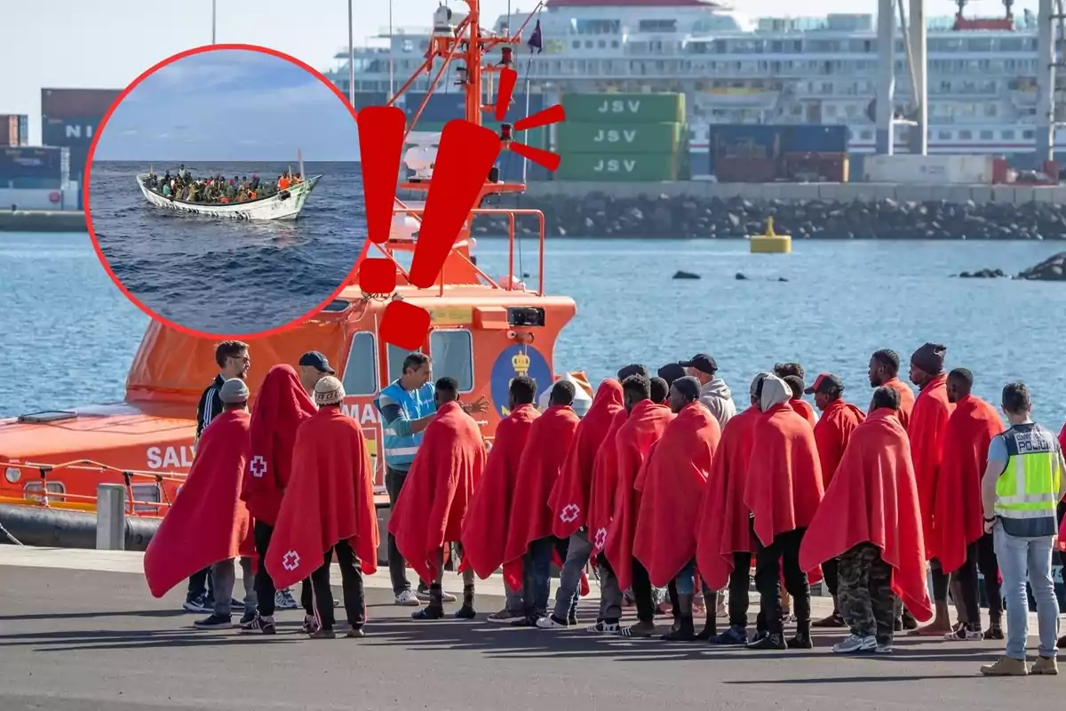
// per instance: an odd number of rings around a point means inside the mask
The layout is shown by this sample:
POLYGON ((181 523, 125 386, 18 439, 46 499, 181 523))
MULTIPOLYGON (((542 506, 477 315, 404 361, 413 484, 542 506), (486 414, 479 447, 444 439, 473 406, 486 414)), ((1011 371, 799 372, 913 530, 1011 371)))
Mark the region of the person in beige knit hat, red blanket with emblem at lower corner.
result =
POLYGON ((336 623, 329 564, 340 567, 346 636, 364 636, 362 576, 377 570, 374 472, 362 427, 341 410, 344 386, 333 375, 314 384, 319 410, 296 429, 292 472, 266 551, 266 571, 288 586, 310 575, 311 639, 333 639, 336 623))

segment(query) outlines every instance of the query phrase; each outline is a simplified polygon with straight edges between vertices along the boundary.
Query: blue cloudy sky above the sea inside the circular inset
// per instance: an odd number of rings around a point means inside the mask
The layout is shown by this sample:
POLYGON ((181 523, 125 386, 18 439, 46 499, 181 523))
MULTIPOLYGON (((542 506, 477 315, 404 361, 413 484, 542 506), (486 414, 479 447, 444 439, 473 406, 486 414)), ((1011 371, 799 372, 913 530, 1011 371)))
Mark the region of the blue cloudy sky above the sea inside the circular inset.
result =
POLYGON ((346 102, 287 60, 243 49, 185 56, 149 75, 111 114, 95 160, 353 161, 346 102))

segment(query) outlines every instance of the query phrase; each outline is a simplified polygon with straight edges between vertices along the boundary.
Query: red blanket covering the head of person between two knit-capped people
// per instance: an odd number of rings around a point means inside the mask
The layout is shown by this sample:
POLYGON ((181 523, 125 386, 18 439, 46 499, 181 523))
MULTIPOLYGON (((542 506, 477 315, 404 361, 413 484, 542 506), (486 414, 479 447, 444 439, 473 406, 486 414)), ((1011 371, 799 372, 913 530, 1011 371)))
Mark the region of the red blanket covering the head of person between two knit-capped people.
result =
POLYGON ((296 427, 316 411, 292 366, 282 363, 266 372, 252 408, 252 456, 241 487, 241 499, 256 520, 277 522, 292 470, 296 427))

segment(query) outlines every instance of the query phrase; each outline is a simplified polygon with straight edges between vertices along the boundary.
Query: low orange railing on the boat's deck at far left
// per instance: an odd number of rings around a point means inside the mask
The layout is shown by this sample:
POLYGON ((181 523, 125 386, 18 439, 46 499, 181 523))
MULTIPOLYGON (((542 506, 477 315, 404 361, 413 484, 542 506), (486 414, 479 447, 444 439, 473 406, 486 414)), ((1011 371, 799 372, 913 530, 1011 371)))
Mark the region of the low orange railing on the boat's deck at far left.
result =
MULTIPOLYGON (((136 469, 119 469, 108 464, 94 462, 92 459, 72 459, 61 464, 41 463, 2 463, 7 469, 29 470, 36 473, 36 479, 22 485, 22 498, 14 499, 0 496, 0 503, 19 503, 22 505, 32 504, 45 508, 68 508, 76 511, 95 511, 96 495, 71 494, 66 490, 66 483, 56 481, 63 485, 63 491, 50 491, 48 489, 49 476, 58 471, 93 472, 96 474, 114 473, 122 478, 126 486, 126 514, 130 516, 160 517, 164 510, 171 506, 171 495, 164 483, 181 486, 185 482, 185 474, 177 472, 152 472, 136 469), (134 497, 133 485, 135 480, 151 481, 157 485, 160 501, 141 501, 134 497), (39 484, 39 491, 35 488, 28 488, 33 484, 39 484), (58 500, 58 501, 53 501, 58 500)), ((2 494, 2 491, 0 491, 2 494)))

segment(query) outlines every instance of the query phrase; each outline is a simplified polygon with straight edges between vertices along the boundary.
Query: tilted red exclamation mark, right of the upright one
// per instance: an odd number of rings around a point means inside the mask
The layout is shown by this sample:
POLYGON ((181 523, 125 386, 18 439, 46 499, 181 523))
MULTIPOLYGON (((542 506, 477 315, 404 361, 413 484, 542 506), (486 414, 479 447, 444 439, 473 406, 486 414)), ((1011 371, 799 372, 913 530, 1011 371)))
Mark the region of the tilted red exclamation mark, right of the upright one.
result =
MULTIPOLYGON (((361 131, 359 140, 361 145, 361 131)), ((491 129, 458 119, 445 126, 410 264, 413 286, 427 289, 437 280, 499 153, 500 136, 491 129)), ((429 328, 425 309, 392 301, 385 307, 378 332, 386 342, 415 350, 429 328)))

